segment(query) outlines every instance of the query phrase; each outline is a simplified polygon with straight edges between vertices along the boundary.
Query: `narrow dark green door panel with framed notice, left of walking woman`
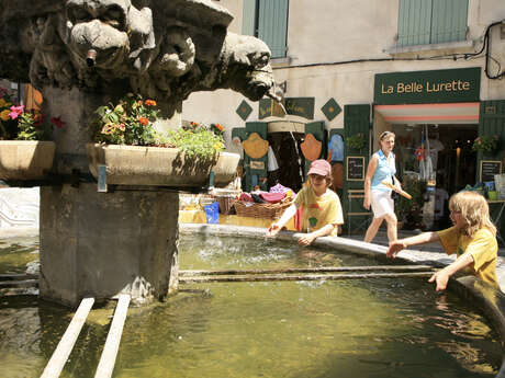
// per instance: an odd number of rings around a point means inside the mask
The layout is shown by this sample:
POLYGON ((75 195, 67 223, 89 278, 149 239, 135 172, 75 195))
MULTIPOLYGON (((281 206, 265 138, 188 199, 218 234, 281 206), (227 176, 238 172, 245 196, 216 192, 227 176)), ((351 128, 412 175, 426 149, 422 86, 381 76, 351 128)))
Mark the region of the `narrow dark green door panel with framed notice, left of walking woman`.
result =
POLYGON ((363 208, 364 174, 370 156, 370 108, 368 104, 344 106, 344 190, 340 202, 344 229, 348 233, 364 232, 370 219, 370 211, 363 208), (363 144, 359 148, 351 147, 349 137, 363 144))

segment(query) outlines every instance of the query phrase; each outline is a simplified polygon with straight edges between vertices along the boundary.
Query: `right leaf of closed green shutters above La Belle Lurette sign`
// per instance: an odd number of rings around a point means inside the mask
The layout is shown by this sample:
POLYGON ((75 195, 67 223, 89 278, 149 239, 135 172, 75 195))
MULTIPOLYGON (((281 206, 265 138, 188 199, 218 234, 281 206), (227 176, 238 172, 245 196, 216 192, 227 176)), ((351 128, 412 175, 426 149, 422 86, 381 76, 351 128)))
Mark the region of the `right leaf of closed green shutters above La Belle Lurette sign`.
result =
POLYGON ((433 44, 467 38, 468 0, 433 0, 433 44))

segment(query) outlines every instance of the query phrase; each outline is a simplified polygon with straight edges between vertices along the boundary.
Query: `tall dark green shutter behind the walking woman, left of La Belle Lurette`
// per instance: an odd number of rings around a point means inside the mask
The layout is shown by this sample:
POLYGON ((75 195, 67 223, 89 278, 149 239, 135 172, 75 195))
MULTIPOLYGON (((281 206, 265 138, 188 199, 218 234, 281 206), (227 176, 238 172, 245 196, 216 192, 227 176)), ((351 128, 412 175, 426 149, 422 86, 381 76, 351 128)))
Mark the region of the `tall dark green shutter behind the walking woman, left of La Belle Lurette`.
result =
MULTIPOLYGON (((345 105, 344 106, 344 191, 343 197, 340 198, 343 210, 344 210, 344 229, 348 233, 360 231, 364 232, 368 227, 370 215, 366 208, 363 208, 362 192, 351 193, 349 191, 364 190, 363 181, 347 181, 347 157, 364 157, 364 173, 367 172, 369 161, 369 142, 361 152, 350 151, 346 138, 362 133, 367 140, 370 140, 370 105, 345 105), (349 211, 350 208, 350 211, 349 211), (348 213, 355 214, 348 216, 348 213)), ((364 179, 364 176, 363 176, 364 179)))

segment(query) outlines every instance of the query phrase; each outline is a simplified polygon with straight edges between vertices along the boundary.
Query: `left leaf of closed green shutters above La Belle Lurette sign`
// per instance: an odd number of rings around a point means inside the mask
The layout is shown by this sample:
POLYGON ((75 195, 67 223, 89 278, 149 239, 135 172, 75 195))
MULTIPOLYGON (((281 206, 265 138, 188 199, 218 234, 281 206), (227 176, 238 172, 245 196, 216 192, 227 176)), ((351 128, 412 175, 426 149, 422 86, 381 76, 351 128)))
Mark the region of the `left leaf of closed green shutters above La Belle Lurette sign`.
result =
POLYGON ((431 0, 400 0, 399 46, 429 44, 431 0))

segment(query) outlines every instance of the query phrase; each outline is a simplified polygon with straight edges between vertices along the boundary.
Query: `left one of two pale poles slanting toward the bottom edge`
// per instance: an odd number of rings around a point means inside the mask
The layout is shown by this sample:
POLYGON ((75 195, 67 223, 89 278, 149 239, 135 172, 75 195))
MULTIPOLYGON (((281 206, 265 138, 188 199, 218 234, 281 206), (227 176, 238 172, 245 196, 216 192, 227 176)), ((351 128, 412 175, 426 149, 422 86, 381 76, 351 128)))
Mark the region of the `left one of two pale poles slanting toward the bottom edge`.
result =
POLYGON ((86 318, 88 318, 88 313, 93 307, 93 303, 94 298, 85 298, 81 300, 79 308, 74 314, 74 318, 59 341, 58 346, 56 346, 55 352, 50 356, 41 378, 59 377, 65 364, 67 363, 68 356, 76 344, 80 330, 82 329, 82 325, 85 325, 86 318))

